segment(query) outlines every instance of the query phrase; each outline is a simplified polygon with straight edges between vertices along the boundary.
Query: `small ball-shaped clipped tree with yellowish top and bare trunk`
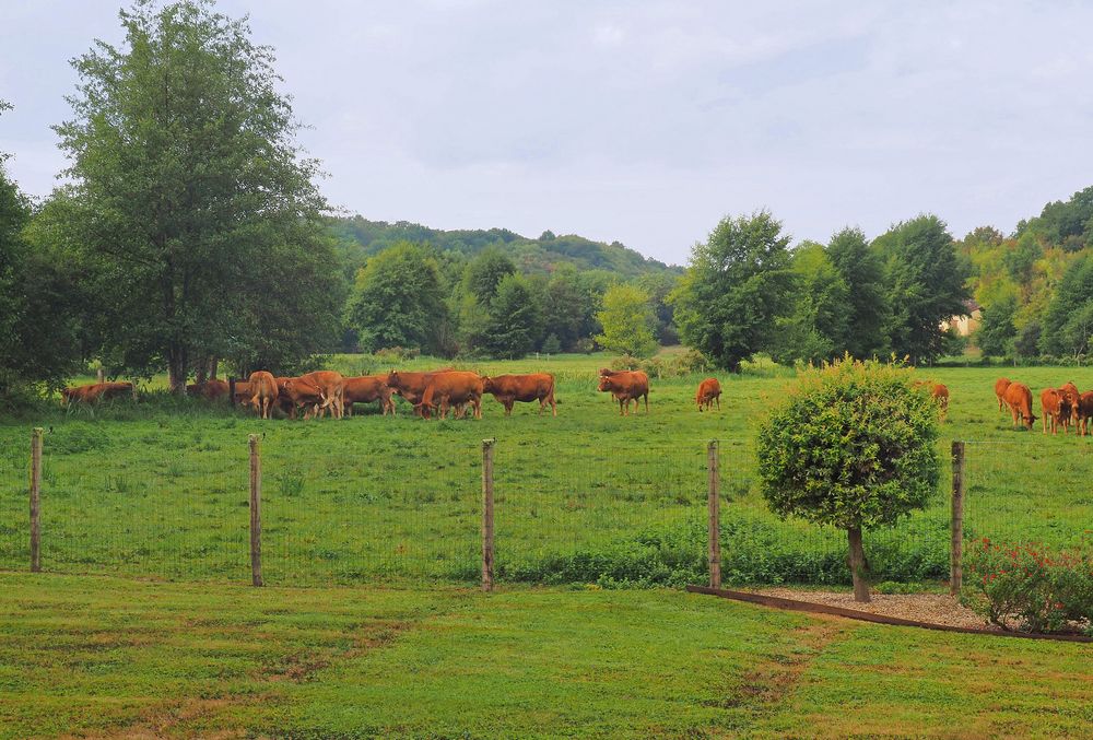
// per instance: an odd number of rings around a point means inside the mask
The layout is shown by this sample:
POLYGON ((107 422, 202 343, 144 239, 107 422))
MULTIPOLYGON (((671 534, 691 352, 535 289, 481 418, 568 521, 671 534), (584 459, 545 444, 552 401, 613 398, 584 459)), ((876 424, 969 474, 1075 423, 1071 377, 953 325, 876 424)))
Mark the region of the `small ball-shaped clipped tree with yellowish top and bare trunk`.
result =
POLYGON ((926 505, 938 434, 938 409, 907 367, 847 356, 810 368, 760 427, 763 497, 781 517, 845 529, 854 598, 869 601, 861 530, 926 505))

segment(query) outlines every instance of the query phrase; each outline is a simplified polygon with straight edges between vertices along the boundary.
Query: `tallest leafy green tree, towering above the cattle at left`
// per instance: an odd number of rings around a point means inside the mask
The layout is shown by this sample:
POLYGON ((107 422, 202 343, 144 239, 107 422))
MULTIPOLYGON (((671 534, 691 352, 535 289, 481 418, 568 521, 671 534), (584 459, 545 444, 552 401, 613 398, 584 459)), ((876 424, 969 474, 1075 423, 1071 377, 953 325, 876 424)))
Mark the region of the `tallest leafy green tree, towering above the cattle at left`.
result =
POLYGON ((166 366, 183 392, 209 355, 326 349, 339 265, 273 50, 208 0, 139 0, 120 19, 124 45, 73 60, 74 116, 56 127, 72 185, 55 226, 99 298, 102 353, 166 366))

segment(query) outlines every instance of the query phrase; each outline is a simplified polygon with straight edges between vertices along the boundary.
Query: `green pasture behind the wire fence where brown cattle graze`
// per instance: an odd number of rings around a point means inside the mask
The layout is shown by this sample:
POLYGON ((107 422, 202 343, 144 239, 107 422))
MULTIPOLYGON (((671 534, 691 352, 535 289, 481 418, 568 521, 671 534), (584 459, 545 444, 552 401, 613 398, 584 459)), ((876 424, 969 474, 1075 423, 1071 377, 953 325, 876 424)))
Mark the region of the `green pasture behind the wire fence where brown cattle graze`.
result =
MULTIPOLYGON (((603 356, 473 365, 545 369, 559 416, 486 399, 482 421, 397 419, 261 422, 226 408, 152 396, 92 412, 59 409, 0 422, 0 567, 27 562, 30 427, 47 428, 43 564, 48 571, 246 582, 247 435, 263 436, 267 582, 281 585, 470 582, 479 565, 480 446, 496 446, 502 579, 678 585, 705 573, 705 449, 720 441, 722 571, 730 582, 844 583, 841 532, 773 517, 756 490, 752 438, 791 373, 720 375, 721 410, 697 413, 695 377, 653 380, 650 413, 622 418, 596 387, 603 356)), ((341 356, 345 373, 387 369, 341 356)), ((409 369, 430 366, 419 360, 409 369)), ((1093 522, 1093 438, 1013 431, 999 413, 999 371, 920 372, 952 394, 942 453, 968 445, 969 537, 1072 544, 1093 522)), ((1089 368, 1020 368, 1034 391, 1089 368)), ((948 475, 945 475, 945 480, 948 475)), ((943 488, 947 488, 944 483, 943 488)), ((948 573, 948 500, 894 530, 867 532, 879 579, 948 573)))

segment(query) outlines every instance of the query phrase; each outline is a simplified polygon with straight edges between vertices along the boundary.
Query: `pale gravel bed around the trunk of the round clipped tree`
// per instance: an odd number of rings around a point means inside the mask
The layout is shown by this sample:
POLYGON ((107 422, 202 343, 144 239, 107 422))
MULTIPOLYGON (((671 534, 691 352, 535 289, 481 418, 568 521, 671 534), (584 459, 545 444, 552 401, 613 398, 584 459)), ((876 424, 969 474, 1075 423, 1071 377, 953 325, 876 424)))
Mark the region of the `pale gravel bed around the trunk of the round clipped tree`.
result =
POLYGON ((783 599, 822 603, 828 607, 856 609, 872 614, 898 616, 905 620, 930 622, 953 627, 976 627, 998 630, 971 609, 948 594, 872 594, 872 601, 858 603, 849 591, 798 591, 791 588, 749 589, 754 594, 776 596, 783 599))

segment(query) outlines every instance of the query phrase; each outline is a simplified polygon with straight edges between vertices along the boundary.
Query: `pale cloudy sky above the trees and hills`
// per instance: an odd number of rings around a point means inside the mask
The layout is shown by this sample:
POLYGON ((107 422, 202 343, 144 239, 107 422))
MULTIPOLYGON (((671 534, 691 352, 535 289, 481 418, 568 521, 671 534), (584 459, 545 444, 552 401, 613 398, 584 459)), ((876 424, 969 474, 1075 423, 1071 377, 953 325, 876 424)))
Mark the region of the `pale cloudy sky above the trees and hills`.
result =
MULTIPOLYGON (((69 60, 118 0, 0 0, 0 152, 45 197, 69 60)), ((795 240, 924 212, 1010 232, 1093 185, 1093 3, 220 0, 274 47, 348 213, 544 230, 684 263, 727 215, 795 240)))

